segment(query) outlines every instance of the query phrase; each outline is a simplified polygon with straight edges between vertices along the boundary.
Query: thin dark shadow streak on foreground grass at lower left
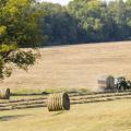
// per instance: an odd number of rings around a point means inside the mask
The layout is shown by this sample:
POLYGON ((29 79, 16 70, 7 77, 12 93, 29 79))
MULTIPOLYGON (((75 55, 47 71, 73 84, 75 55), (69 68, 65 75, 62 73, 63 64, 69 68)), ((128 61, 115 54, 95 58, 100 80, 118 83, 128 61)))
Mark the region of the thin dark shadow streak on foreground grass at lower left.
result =
POLYGON ((3 117, 0 117, 0 121, 9 121, 9 120, 19 119, 21 117, 26 117, 26 116, 28 115, 3 116, 3 117))

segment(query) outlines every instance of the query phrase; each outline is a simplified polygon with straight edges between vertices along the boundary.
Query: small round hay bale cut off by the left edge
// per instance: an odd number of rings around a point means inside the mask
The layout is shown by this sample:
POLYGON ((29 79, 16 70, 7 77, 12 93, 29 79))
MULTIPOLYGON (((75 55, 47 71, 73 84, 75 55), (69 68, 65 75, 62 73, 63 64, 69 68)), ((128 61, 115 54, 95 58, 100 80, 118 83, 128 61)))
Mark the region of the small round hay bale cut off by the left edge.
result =
POLYGON ((10 88, 1 88, 0 99, 9 99, 9 98, 10 98, 10 88))

